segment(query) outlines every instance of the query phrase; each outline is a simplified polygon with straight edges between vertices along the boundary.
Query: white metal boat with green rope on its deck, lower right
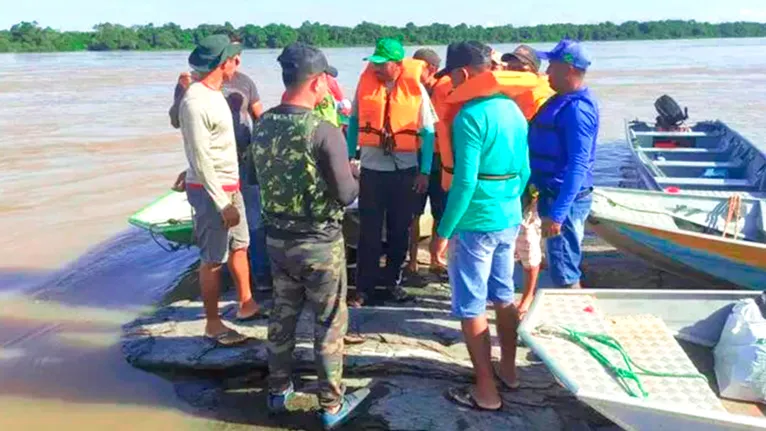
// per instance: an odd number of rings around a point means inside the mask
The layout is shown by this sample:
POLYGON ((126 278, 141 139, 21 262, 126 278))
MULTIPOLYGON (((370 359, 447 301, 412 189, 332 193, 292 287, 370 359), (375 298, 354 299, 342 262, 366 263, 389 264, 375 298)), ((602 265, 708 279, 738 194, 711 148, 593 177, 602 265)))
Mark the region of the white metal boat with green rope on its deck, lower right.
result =
POLYGON ((568 391, 625 430, 766 430, 766 406, 719 397, 712 354, 733 304, 760 294, 544 289, 519 334, 568 391))

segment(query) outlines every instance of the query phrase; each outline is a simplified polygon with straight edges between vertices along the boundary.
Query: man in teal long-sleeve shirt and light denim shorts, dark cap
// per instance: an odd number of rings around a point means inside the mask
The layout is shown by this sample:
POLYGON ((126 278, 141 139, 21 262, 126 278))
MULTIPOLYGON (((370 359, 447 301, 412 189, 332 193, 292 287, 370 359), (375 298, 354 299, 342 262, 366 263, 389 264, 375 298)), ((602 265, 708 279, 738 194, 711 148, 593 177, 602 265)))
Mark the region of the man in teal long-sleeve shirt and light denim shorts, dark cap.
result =
MULTIPOLYGON (((448 53, 446 70, 459 87, 489 73, 491 49, 464 42, 448 53)), ((527 121, 503 95, 466 103, 452 123, 454 176, 438 235, 449 238, 452 313, 461 319, 476 374, 474 387, 452 388, 453 402, 498 410, 502 401, 495 375, 507 388, 518 387, 514 305, 514 246, 522 220, 521 194, 529 179, 527 121), (494 303, 502 357, 493 369, 486 316, 494 303)))

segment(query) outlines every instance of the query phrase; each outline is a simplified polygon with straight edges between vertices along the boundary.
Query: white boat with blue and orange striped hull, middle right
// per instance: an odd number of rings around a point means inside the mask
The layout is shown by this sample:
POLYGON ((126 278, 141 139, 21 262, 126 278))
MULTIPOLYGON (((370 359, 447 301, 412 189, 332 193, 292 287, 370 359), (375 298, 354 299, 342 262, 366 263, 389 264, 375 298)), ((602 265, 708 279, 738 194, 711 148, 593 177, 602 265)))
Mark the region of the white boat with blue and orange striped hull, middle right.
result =
POLYGON ((764 199, 600 187, 588 221, 614 247, 667 272, 766 289, 764 199))

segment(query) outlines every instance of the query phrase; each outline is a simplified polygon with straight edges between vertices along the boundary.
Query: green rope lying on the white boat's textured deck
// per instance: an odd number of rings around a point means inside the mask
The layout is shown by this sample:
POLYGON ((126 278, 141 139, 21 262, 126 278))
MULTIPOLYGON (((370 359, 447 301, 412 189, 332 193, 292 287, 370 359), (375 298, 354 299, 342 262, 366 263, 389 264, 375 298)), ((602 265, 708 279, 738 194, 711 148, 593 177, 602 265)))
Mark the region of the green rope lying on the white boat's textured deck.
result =
POLYGON ((646 398, 649 396, 649 393, 646 392, 646 390, 644 390, 644 386, 641 384, 641 380, 639 379, 638 376, 668 377, 668 378, 682 378, 682 379, 699 378, 707 382, 707 377, 699 373, 677 374, 677 373, 660 373, 656 371, 647 370, 646 368, 638 365, 630 357, 630 355, 628 355, 628 353, 625 351, 625 348, 622 347, 620 342, 616 338, 612 337, 611 335, 594 334, 590 332, 580 332, 580 331, 575 331, 573 329, 564 328, 564 327, 562 327, 561 329, 564 331, 564 333, 561 335, 564 335, 565 338, 569 339, 573 343, 585 349, 588 353, 590 353, 591 356, 593 356, 594 359, 596 359, 596 361, 598 361, 601 365, 603 365, 605 368, 607 368, 612 373, 614 373, 614 375, 617 376, 618 382, 623 386, 625 391, 631 397, 639 398, 639 394, 637 394, 630 385, 631 381, 634 382, 635 385, 638 387, 641 397, 646 398), (604 346, 607 346, 616 350, 622 357, 622 360, 624 362, 624 367, 613 364, 612 361, 610 361, 609 358, 604 356, 596 348, 595 345, 589 343, 587 340, 593 340, 599 344, 602 344, 604 346))

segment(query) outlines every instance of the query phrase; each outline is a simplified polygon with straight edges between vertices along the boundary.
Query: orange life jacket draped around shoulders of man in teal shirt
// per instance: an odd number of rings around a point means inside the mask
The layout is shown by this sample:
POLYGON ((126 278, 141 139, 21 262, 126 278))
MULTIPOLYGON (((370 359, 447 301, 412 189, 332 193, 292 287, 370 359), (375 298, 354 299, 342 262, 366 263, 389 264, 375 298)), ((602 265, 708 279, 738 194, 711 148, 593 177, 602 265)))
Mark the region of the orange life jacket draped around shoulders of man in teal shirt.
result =
MULTIPOLYGON (((452 148, 452 122, 463 105, 474 99, 499 94, 505 95, 514 101, 527 94, 524 96, 529 98, 527 100, 535 100, 528 93, 534 92, 540 86, 550 88, 546 77, 530 72, 496 71, 474 76, 452 91, 447 98, 448 108, 446 113, 444 116, 439 117, 439 124, 441 126, 437 128, 442 162, 442 188, 444 190, 449 190, 452 186, 452 174, 455 167, 452 148)), ((518 104, 519 102, 517 101, 516 103, 518 104)), ((479 173, 480 180, 497 181, 510 178, 513 178, 513 174, 485 175, 479 173)))

